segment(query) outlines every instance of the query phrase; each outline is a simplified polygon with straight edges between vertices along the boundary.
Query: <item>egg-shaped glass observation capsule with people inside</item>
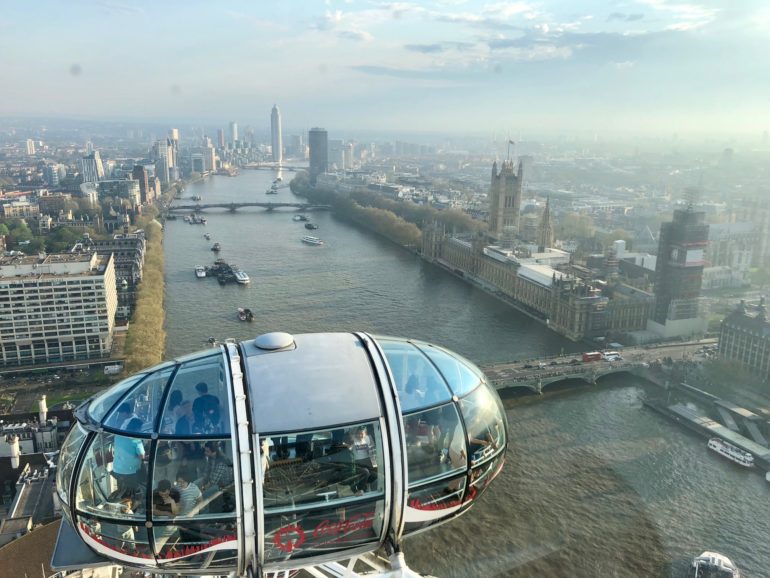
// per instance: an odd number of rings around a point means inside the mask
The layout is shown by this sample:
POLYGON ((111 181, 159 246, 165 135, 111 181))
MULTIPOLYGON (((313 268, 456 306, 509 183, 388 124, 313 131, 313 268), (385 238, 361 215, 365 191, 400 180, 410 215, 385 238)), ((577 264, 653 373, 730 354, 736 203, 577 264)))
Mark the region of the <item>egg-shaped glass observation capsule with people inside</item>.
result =
POLYGON ((471 362, 365 333, 268 333, 141 371, 61 448, 53 565, 245 575, 349 559, 448 521, 502 468, 471 362))

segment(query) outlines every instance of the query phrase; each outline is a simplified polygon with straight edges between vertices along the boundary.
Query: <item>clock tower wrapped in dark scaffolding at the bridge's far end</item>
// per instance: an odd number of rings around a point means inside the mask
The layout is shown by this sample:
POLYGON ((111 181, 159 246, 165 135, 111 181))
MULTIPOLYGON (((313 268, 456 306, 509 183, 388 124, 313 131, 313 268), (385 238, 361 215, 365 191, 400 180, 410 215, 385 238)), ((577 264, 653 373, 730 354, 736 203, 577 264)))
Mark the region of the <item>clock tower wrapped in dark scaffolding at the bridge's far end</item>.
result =
POLYGON ((673 220, 660 226, 649 328, 662 337, 694 335, 706 328, 699 301, 708 234, 706 214, 692 204, 676 209, 673 220))

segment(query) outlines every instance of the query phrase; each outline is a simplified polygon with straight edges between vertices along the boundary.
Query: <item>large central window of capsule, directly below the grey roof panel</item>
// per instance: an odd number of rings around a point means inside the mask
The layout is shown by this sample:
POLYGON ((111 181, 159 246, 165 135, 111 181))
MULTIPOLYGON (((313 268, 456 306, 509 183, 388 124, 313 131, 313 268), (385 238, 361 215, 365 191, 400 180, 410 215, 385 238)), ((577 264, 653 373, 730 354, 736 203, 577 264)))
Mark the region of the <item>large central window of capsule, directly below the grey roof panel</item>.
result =
POLYGON ((298 508, 382 495, 382 434, 377 422, 335 430, 280 434, 269 444, 265 509, 298 508))

